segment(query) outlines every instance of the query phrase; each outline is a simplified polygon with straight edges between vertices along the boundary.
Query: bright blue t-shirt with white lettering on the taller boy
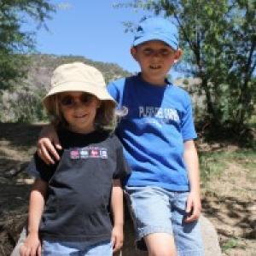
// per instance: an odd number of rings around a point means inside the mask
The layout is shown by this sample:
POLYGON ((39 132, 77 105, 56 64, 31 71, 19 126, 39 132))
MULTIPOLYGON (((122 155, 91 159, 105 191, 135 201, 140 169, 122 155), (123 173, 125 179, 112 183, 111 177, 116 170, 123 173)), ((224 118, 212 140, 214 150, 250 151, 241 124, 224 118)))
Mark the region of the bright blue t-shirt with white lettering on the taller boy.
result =
POLYGON ((183 143, 196 137, 189 94, 148 84, 140 74, 113 81, 108 91, 128 110, 116 131, 132 171, 126 185, 188 191, 183 143))

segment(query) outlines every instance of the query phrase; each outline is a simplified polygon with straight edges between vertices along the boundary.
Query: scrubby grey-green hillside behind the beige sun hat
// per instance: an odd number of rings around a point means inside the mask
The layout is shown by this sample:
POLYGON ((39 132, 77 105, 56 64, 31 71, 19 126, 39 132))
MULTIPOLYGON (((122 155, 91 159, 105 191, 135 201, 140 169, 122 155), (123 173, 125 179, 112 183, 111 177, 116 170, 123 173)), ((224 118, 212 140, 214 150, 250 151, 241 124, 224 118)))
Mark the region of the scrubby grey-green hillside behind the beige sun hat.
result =
POLYGON ((42 107, 42 98, 49 89, 50 78, 55 67, 73 61, 99 69, 108 84, 113 79, 130 76, 117 64, 102 61, 91 61, 83 56, 74 55, 28 55, 31 59, 28 65, 27 77, 0 95, 0 122, 37 122, 47 120, 42 107))

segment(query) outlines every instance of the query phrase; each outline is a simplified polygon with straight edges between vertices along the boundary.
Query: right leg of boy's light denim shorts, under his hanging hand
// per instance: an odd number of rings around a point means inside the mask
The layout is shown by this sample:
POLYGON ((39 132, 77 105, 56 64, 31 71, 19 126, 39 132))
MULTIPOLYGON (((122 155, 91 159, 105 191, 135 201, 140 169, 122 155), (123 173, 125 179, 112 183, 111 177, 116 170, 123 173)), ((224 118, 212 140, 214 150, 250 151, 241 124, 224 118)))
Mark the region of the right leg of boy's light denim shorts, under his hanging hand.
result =
POLYGON ((178 256, 203 256, 201 228, 198 221, 185 223, 189 192, 174 192, 172 200, 172 227, 178 256))

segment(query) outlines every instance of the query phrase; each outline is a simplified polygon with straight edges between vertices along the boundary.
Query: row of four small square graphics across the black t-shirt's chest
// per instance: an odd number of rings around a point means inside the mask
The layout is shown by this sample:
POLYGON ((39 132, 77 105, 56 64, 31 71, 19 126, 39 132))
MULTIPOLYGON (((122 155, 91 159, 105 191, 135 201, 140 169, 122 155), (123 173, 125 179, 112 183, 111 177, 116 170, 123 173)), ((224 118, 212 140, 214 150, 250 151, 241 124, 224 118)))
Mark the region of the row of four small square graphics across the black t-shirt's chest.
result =
POLYGON ((71 159, 86 159, 86 158, 108 158, 107 148, 98 148, 98 147, 86 147, 79 149, 72 149, 70 151, 71 159))

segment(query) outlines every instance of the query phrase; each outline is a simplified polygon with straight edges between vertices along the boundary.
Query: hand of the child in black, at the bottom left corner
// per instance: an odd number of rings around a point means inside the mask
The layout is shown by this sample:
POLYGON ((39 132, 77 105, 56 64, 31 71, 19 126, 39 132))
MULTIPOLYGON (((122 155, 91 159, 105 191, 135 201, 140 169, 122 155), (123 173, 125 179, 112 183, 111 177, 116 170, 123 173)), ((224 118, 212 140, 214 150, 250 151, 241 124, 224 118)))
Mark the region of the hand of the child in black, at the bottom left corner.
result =
POLYGON ((20 247, 20 256, 41 256, 41 242, 38 234, 29 234, 20 247))

